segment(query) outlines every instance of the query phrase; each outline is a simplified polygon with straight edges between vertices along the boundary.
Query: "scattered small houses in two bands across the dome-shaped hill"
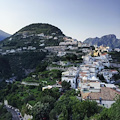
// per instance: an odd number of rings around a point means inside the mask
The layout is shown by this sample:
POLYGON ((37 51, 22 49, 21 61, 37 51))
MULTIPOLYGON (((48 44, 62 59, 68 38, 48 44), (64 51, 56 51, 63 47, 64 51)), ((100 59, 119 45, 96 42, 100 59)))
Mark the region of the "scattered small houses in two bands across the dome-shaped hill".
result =
POLYGON ((40 44, 39 44, 40 47, 45 46, 44 42, 46 39, 58 40, 59 38, 63 38, 63 36, 56 36, 56 33, 51 33, 51 35, 45 35, 44 33, 36 34, 30 31, 23 31, 23 32, 16 33, 13 37, 10 37, 9 41, 12 41, 14 37, 16 36, 19 36, 19 38, 23 39, 23 42, 24 44, 26 44, 26 46, 23 46, 17 49, 6 49, 6 50, 0 49, 1 55, 12 54, 16 52, 24 52, 24 51, 29 51, 29 50, 36 50, 37 48, 34 45, 27 46, 27 44, 31 43, 30 41, 24 41, 26 38, 29 38, 29 37, 38 37, 40 39, 40 44))

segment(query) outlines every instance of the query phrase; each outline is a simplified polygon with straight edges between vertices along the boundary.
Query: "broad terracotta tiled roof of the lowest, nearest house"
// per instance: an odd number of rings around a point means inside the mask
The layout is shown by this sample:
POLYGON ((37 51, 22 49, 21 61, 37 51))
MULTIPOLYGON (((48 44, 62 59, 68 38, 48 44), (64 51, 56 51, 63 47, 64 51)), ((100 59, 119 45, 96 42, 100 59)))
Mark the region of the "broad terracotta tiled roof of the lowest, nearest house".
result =
MULTIPOLYGON (((101 87, 101 91, 98 93, 92 92, 88 94, 91 100, 99 100, 101 97, 102 100, 109 100, 109 101, 114 101, 116 95, 120 95, 120 92, 107 87, 101 87)), ((87 96, 85 96, 83 99, 87 99, 87 96)))

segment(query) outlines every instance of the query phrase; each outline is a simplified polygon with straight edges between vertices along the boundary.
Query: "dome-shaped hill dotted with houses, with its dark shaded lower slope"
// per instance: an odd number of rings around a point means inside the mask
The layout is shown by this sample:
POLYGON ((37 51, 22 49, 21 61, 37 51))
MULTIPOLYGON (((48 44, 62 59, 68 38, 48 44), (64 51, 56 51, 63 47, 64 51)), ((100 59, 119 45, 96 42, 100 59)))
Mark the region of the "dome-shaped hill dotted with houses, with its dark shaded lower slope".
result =
POLYGON ((59 28, 37 23, 28 25, 0 41, 0 79, 13 76, 17 80, 24 78, 40 66, 49 54, 44 48, 59 45, 63 37, 59 28))

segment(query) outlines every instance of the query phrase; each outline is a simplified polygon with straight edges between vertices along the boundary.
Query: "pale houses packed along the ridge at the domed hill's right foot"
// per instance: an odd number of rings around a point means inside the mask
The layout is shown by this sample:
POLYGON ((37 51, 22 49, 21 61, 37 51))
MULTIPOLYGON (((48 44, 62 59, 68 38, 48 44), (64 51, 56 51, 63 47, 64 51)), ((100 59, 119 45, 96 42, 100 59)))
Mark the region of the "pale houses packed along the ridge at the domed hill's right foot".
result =
MULTIPOLYGON (((59 46, 48 46, 45 47, 49 52, 57 53, 57 56, 64 56, 66 53, 72 53, 73 51, 79 51, 83 53, 92 52, 90 45, 77 41, 76 39, 63 37, 64 42, 60 42, 59 46)), ((75 52, 76 54, 76 52, 75 52)))

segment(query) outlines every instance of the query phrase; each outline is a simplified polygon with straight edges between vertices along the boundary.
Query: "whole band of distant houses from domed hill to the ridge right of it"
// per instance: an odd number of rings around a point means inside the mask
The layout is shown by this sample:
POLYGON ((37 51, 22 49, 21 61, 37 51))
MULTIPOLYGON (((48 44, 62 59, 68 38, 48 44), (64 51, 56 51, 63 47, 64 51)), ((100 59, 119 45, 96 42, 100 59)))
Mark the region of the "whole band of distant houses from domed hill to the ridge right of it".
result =
POLYGON ((34 45, 27 46, 27 44, 31 43, 30 41, 24 41, 24 39, 32 36, 40 38, 40 41, 39 41, 40 49, 42 47, 42 49, 44 48, 49 52, 57 53, 57 56, 64 56, 67 53, 66 51, 69 51, 69 50, 76 51, 81 49, 83 53, 91 52, 91 49, 89 49, 90 47, 89 44, 82 43, 80 41, 77 41, 76 39, 72 39, 67 36, 56 36, 56 33, 52 33, 51 35, 45 35, 44 33, 34 34, 31 32, 29 33, 28 31, 23 31, 23 32, 18 32, 13 37, 10 37, 9 41, 12 41, 15 36, 21 37, 21 39, 23 39, 23 42, 24 44, 26 44, 26 46, 19 47, 16 49, 6 49, 6 50, 0 49, 0 54, 6 55, 6 54, 17 53, 17 52, 38 50, 39 48, 36 48, 34 45), (63 42, 60 42, 58 46, 45 46, 46 39, 54 39, 54 40, 63 39, 63 42))

